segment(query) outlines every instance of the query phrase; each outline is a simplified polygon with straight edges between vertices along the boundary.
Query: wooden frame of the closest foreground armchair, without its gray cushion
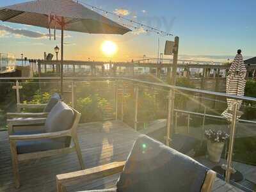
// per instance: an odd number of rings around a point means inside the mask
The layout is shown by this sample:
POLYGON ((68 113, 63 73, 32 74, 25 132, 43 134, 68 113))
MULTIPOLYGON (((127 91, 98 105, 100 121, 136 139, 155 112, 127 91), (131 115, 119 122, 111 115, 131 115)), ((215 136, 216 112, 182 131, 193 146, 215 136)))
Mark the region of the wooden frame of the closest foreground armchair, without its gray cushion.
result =
MULTIPOLYGON (((57 191, 66 192, 66 188, 68 186, 78 184, 79 182, 89 182, 92 180, 108 177, 110 175, 115 175, 117 173, 122 173, 124 166, 125 161, 114 162, 87 170, 56 175, 57 191)), ((201 192, 211 192, 215 178, 216 172, 209 170, 206 174, 201 192)))

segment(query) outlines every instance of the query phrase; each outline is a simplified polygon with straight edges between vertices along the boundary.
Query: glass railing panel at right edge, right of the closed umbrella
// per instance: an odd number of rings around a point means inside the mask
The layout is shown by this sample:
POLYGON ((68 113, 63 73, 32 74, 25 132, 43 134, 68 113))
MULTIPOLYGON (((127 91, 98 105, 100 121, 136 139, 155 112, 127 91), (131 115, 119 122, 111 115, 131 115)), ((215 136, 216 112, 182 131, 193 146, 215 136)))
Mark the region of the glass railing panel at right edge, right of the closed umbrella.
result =
POLYGON ((230 179, 248 191, 256 191, 255 102, 238 104, 237 115, 241 117, 236 122, 230 179))

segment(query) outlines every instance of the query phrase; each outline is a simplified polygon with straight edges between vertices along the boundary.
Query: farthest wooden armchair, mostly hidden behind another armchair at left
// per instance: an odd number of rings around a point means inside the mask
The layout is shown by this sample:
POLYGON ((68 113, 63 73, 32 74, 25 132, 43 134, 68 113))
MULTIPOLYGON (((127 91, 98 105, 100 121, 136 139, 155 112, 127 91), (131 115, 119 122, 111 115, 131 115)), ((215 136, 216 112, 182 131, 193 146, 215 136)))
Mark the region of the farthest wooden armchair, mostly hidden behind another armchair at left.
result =
POLYGON ((47 117, 51 109, 61 100, 58 93, 54 93, 47 104, 17 104, 17 109, 42 109, 42 113, 7 113, 7 119, 12 118, 42 118, 47 117))

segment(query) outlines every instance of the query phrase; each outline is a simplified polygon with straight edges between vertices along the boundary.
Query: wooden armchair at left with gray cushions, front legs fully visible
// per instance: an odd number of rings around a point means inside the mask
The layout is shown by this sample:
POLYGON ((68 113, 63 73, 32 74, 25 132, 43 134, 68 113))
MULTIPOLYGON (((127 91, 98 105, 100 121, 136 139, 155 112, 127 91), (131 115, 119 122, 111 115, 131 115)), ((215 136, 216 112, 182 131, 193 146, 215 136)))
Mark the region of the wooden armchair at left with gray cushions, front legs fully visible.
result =
POLYGON ((77 125, 81 113, 59 101, 47 118, 8 120, 9 141, 12 154, 15 186, 19 188, 19 161, 40 159, 76 150, 81 168, 84 169, 81 149, 77 138, 77 125), (14 130, 13 125, 44 124, 44 129, 14 130), (73 141, 74 146, 71 145, 73 141))

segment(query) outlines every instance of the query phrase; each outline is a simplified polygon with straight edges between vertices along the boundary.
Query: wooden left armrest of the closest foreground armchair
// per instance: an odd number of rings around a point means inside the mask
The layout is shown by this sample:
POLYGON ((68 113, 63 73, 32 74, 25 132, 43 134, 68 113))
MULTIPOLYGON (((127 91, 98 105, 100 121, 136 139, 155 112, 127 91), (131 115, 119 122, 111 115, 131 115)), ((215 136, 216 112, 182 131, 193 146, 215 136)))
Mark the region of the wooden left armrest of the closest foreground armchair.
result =
POLYGON ((57 191, 65 191, 65 187, 77 184, 79 182, 88 182, 121 173, 124 170, 124 165, 125 161, 114 162, 87 170, 56 175, 57 191))

